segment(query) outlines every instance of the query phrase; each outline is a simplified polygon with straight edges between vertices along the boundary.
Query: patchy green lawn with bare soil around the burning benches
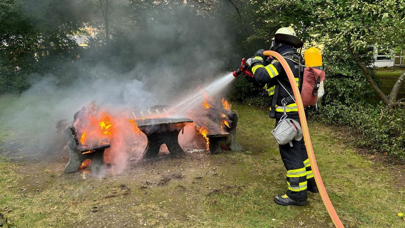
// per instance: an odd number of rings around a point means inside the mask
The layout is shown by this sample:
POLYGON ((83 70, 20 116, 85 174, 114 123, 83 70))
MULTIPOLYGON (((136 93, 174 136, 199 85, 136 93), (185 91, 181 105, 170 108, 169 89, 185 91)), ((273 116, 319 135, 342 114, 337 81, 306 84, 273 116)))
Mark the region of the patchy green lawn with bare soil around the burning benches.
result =
MULTIPOLYGON (((4 102, 0 98, 0 107, 4 102)), ((89 170, 63 174, 66 151, 53 156, 38 151, 27 159, 12 157, 3 143, 0 210, 21 228, 333 227, 319 194, 309 193, 301 207, 273 202, 286 190, 286 170, 270 133, 274 120, 263 109, 232 109, 239 115, 243 151, 134 162, 124 172, 107 168, 104 178, 89 170)), ((405 227, 397 217, 405 212, 404 166, 358 155, 340 128, 311 123, 309 129, 322 180, 343 224, 405 227)), ((7 134, 0 137, 5 141, 7 134)))

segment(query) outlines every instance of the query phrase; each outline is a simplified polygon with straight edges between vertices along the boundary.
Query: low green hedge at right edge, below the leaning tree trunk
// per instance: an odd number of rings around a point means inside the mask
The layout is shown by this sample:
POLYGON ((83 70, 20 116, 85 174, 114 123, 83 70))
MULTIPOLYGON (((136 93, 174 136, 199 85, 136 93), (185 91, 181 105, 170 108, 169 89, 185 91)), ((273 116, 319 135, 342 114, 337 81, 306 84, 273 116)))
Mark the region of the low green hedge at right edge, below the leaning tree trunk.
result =
POLYGON ((354 138, 358 146, 378 149, 389 155, 405 159, 405 105, 388 110, 384 105, 364 102, 347 106, 331 103, 316 114, 326 123, 346 125, 355 129, 360 137, 354 138))

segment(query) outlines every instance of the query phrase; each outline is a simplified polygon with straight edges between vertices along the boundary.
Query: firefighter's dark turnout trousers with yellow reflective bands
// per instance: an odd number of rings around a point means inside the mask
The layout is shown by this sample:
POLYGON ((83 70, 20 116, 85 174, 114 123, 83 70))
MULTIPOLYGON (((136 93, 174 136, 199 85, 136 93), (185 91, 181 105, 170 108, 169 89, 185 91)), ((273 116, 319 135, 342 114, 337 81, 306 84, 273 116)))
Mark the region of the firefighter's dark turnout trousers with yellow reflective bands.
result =
MULTIPOLYGON (((301 125, 298 116, 288 116, 296 120, 301 125)), ((276 126, 280 118, 276 118, 276 126)), ((315 179, 309 163, 307 149, 305 148, 304 138, 301 140, 292 140, 290 144, 279 145, 281 159, 287 174, 287 196, 293 200, 307 200, 307 187, 315 187, 315 179)))

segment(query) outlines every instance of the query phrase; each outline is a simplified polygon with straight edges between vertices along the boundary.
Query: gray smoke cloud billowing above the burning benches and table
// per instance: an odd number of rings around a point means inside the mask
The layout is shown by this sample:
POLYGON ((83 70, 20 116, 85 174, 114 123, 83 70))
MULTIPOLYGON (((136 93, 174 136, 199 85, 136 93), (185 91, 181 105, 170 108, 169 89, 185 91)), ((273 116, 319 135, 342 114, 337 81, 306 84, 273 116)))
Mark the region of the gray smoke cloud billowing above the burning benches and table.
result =
MULTIPOLYGON (((30 146, 36 153, 58 151, 66 145, 58 131, 82 106, 94 102, 113 115, 153 105, 175 106, 217 79, 228 64, 235 34, 226 19, 175 6, 170 11, 140 10, 139 21, 117 26, 128 19, 119 9, 111 16, 108 52, 100 53, 90 43, 80 56, 91 59, 93 67, 75 63, 79 74, 35 77, 30 89, 9 98, 11 105, 0 117, 12 132, 9 142, 18 141, 15 145, 30 146), (66 78, 71 82, 66 84, 66 78)), ((183 103, 181 112, 187 106, 183 103)), ((189 126, 186 130, 192 132, 189 126)))

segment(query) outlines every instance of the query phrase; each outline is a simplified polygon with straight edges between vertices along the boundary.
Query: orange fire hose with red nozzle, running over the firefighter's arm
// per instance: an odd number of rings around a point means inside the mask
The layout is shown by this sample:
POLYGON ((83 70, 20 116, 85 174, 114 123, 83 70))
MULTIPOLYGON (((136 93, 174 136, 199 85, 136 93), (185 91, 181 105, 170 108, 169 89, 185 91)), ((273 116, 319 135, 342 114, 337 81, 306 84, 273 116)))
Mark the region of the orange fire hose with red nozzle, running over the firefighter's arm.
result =
MULTIPOLYGON (((274 51, 264 51, 263 54, 264 54, 264 56, 273 56, 274 58, 276 58, 283 66, 284 71, 286 71, 286 73, 287 73, 288 80, 290 81, 291 88, 294 92, 294 97, 295 97, 296 104, 298 107, 298 115, 301 120, 301 128, 303 131, 305 148, 307 148, 309 163, 311 164, 311 168, 312 168, 313 176, 315 178, 316 185, 318 186, 322 201, 324 202, 326 210, 328 211, 333 224, 335 224, 336 228, 344 228, 342 222, 339 219, 339 216, 337 215, 337 213, 335 211, 335 208, 333 208, 332 202, 330 202, 328 193, 326 192, 324 183, 322 182, 321 174, 318 170, 318 165, 316 163, 315 155, 313 153, 311 138, 309 136, 309 129, 308 129, 307 119, 305 117, 304 106, 303 106, 303 102, 301 99, 300 91, 298 90, 298 87, 296 86, 294 74, 292 73, 291 68, 288 65, 288 63, 286 62, 286 60, 279 53, 274 52, 274 51)), ((236 77, 240 73, 245 73, 246 75, 253 77, 253 74, 247 70, 246 61, 244 58, 242 60, 241 67, 239 69, 237 69, 236 71, 234 71, 233 75, 236 77)))

